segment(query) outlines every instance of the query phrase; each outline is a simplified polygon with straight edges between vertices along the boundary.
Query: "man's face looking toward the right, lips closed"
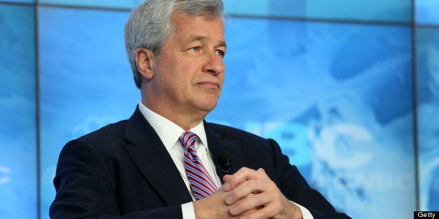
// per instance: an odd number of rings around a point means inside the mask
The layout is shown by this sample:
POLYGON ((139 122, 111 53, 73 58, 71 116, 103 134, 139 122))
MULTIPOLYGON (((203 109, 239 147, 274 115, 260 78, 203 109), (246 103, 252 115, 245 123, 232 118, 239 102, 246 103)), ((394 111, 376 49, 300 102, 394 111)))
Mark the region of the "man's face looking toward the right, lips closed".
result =
POLYGON ((223 22, 220 18, 176 14, 172 23, 175 33, 161 47, 152 66, 154 96, 150 98, 164 116, 206 116, 217 105, 224 82, 223 22))

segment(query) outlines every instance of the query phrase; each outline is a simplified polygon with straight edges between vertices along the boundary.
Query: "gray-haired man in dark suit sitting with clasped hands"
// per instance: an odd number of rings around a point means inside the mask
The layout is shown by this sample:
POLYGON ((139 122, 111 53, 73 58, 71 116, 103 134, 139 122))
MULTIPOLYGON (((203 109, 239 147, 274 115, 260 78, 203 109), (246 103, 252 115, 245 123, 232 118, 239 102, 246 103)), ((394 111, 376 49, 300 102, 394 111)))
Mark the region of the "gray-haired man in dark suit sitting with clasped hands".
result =
POLYGON ((349 218, 273 139, 204 121, 224 81, 222 10, 221 0, 150 0, 131 12, 141 103, 64 146, 51 218, 349 218))

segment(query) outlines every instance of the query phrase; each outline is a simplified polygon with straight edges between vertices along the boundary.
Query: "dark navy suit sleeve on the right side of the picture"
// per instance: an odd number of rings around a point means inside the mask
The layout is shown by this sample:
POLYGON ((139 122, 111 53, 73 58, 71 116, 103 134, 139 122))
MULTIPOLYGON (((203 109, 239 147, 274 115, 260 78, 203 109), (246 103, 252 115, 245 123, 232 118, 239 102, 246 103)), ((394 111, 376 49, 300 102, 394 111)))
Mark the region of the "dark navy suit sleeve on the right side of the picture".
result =
POLYGON ((275 140, 268 139, 273 149, 273 163, 280 190, 289 200, 304 206, 314 218, 350 218, 336 209, 320 194, 312 189, 294 165, 290 165, 287 156, 282 154, 275 140))

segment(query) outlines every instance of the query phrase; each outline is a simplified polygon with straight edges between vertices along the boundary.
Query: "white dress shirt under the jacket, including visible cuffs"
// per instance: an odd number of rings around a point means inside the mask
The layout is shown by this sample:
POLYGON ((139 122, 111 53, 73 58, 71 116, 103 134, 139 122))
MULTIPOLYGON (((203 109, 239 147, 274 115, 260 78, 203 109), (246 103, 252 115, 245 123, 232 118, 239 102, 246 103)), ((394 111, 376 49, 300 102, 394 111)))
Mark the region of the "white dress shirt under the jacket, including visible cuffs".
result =
MULTIPOLYGON (((180 135, 182 135, 182 133, 185 133, 185 130, 183 130, 180 126, 177 126, 172 121, 169 121, 168 119, 164 118, 163 116, 160 116, 155 112, 152 112, 150 109, 145 107, 143 103, 139 103, 138 108, 143 114, 143 116, 145 116, 145 119, 150 123, 152 128, 154 128, 157 135, 159 135, 161 142, 163 142, 164 146, 166 147, 166 150, 171 155, 171 158, 175 163, 178 172, 180 172, 183 181, 185 181, 187 190, 189 190, 192 199, 195 201, 194 193, 190 188, 189 180, 187 179, 186 176, 185 158, 184 158, 185 148, 182 146, 182 144, 180 144, 180 141, 178 140, 180 138, 180 135)), ((203 121, 201 121, 201 123, 199 123, 197 126, 192 128, 190 131, 192 133, 195 133, 199 137, 195 142, 195 149, 196 149, 196 153, 201 159, 201 163, 203 163, 204 167, 206 168, 210 176, 212 176, 212 179, 216 183, 217 187, 218 188, 221 187, 222 181, 221 179, 219 179, 219 176, 215 172, 215 165, 213 164, 212 155, 210 154, 210 151, 208 149, 208 141, 206 137, 206 132, 204 130, 203 121)), ((311 216, 310 211, 308 211, 308 209, 305 209, 303 206, 300 205, 298 206, 302 210, 303 218, 305 219, 313 218, 311 216)), ((195 218, 193 202, 182 204, 182 213, 183 213, 183 218, 185 219, 195 218)))

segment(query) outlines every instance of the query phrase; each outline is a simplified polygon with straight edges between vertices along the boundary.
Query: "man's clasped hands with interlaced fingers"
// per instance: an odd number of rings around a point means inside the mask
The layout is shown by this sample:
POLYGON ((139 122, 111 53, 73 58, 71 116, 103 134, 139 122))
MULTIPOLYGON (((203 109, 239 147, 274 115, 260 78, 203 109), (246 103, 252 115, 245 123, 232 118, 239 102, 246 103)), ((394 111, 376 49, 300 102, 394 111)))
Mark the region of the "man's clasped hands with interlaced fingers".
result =
POLYGON ((243 167, 223 178, 215 194, 194 202, 196 218, 302 218, 264 169, 243 167))

